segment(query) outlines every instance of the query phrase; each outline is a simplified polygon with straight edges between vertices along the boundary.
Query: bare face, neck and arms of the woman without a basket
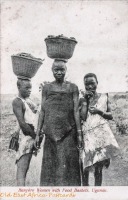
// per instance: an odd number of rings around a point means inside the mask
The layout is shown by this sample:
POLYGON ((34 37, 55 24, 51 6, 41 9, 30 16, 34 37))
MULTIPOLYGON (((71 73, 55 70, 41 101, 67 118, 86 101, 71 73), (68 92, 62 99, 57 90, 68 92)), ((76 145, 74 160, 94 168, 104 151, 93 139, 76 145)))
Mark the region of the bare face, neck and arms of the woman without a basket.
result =
POLYGON ((111 114, 111 108, 110 108, 110 102, 107 100, 107 110, 106 112, 103 112, 102 110, 99 110, 95 107, 95 103, 100 97, 101 94, 98 94, 96 92, 97 89, 97 80, 95 77, 87 77, 84 80, 84 85, 86 92, 84 94, 84 100, 81 107, 81 118, 86 121, 87 118, 87 112, 89 111, 91 114, 95 115, 98 114, 102 116, 104 119, 112 120, 112 114, 111 114))

